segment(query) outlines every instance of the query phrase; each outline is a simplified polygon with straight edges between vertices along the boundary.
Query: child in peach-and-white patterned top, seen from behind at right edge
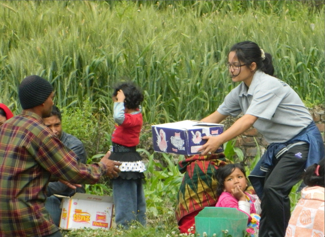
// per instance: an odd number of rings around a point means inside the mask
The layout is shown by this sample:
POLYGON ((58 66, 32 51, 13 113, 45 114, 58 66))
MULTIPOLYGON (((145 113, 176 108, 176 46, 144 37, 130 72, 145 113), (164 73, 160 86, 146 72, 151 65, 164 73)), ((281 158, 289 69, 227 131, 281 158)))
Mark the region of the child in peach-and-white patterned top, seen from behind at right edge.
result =
POLYGON ((286 229, 285 237, 323 237, 324 231, 324 162, 311 165, 304 174, 307 187, 301 190, 301 199, 286 229))

